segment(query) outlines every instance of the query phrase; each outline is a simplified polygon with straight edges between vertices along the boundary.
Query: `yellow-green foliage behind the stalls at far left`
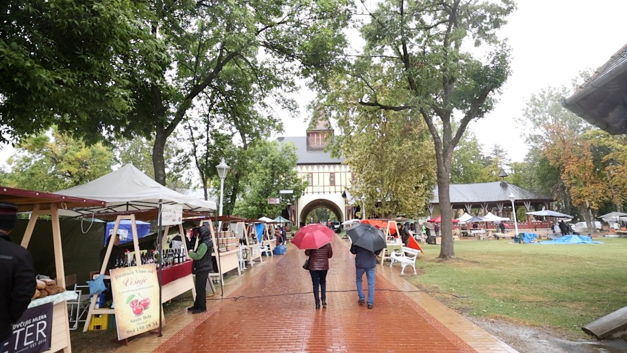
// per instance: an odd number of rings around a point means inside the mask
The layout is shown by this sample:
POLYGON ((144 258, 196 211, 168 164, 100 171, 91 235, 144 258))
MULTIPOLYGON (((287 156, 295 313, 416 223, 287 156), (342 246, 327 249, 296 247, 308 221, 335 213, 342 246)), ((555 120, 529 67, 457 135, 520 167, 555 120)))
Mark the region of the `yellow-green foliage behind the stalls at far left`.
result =
POLYGON ((23 139, 8 160, 11 172, 0 175, 0 185, 55 192, 110 173, 112 162, 112 152, 102 144, 86 146, 53 128, 51 137, 23 139))

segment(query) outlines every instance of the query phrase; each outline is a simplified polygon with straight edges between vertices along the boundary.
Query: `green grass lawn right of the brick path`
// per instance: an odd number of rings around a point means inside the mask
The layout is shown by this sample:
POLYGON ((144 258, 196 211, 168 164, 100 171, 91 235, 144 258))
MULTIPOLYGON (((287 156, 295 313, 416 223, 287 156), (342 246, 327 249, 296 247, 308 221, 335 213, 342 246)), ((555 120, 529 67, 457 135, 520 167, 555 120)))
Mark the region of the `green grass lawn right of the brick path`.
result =
POLYGON ((627 239, 594 240, 604 244, 456 241, 450 261, 421 245, 411 282, 466 315, 586 337, 583 325, 627 305, 627 239))

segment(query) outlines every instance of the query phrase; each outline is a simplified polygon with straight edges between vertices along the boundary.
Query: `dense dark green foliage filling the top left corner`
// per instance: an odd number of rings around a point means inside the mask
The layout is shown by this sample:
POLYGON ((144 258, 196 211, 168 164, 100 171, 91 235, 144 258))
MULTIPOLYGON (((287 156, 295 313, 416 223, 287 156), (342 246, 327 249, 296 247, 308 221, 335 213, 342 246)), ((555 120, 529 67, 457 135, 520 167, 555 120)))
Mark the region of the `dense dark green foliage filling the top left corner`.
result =
POLYGON ((0 142, 53 124, 90 141, 124 131, 129 75, 165 55, 150 18, 130 0, 0 2, 0 142))

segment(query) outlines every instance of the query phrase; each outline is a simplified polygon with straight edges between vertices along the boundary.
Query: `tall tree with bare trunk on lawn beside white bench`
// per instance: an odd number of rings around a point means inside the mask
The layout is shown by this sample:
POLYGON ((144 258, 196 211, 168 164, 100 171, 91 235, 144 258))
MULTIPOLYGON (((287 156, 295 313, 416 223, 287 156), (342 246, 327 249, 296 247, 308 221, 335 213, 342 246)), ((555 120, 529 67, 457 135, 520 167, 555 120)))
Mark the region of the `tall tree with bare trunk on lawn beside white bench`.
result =
POLYGON ((442 216, 440 258, 455 257, 453 151, 466 126, 492 109, 507 79, 509 50, 497 31, 514 8, 510 0, 381 1, 367 9, 364 53, 349 68, 348 85, 359 92, 359 104, 408 111, 421 117, 431 134, 442 216))

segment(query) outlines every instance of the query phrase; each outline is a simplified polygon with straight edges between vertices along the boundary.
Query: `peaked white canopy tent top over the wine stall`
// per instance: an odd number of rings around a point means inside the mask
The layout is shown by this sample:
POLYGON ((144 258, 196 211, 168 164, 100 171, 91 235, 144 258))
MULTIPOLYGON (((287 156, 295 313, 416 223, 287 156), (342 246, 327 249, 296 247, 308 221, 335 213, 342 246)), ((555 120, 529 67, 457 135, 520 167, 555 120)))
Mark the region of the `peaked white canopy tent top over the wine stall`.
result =
POLYGON ((63 215, 155 209, 159 207, 159 200, 162 200, 165 205, 182 205, 184 210, 209 212, 216 209, 215 202, 200 200, 164 187, 130 163, 96 180, 56 193, 95 198, 107 202, 106 206, 63 210, 63 212, 60 210, 63 215))

